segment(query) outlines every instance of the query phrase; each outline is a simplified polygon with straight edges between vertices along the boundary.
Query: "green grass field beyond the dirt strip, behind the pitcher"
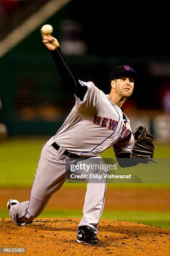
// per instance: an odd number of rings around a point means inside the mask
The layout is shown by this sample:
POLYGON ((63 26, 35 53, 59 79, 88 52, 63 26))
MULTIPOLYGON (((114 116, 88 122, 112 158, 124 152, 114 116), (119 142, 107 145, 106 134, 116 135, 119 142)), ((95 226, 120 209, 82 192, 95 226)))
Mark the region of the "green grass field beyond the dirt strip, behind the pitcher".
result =
MULTIPOLYGON (((48 138, 10 138, 0 144, 0 186, 31 187, 40 151, 48 138)), ((168 158, 170 144, 156 144, 155 158, 168 158)), ((113 149, 101 154, 113 158, 113 149)), ((85 187, 86 184, 65 184, 64 187, 85 187)), ((108 184, 108 187, 170 187, 169 184, 108 184), (142 185, 142 186, 141 186, 142 185)))

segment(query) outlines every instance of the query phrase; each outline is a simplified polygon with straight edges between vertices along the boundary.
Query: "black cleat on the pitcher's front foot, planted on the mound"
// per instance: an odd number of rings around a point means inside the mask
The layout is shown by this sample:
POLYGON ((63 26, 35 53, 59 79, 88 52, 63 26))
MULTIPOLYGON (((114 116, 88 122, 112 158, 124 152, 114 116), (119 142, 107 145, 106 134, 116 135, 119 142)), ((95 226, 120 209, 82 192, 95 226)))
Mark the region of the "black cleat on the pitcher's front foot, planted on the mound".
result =
POLYGON ((80 226, 77 229, 78 243, 85 243, 89 245, 99 244, 99 239, 96 237, 94 229, 88 226, 80 226))

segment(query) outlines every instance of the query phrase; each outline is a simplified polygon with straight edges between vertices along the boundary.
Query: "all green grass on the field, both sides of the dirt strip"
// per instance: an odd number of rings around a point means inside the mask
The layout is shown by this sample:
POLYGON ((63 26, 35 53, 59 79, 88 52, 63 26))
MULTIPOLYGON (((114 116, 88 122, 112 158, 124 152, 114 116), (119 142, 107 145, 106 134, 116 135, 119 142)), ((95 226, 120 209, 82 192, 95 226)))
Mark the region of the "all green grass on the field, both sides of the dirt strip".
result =
MULTIPOLYGON (((11 138, 0 144, 0 186, 31 187, 40 151, 48 138, 11 138)), ((155 145, 155 158, 169 158, 170 144, 155 145)), ((101 154, 112 158, 113 149, 101 154)), ((63 188, 85 188, 85 183, 65 183, 63 188)), ((107 189, 170 189, 170 184, 107 184, 107 189)), ((0 218, 10 218, 7 209, 0 209, 0 218)), ((81 210, 44 210, 39 218, 82 218, 81 210)), ((170 212, 109 211, 102 219, 126 220, 170 229, 170 212)))

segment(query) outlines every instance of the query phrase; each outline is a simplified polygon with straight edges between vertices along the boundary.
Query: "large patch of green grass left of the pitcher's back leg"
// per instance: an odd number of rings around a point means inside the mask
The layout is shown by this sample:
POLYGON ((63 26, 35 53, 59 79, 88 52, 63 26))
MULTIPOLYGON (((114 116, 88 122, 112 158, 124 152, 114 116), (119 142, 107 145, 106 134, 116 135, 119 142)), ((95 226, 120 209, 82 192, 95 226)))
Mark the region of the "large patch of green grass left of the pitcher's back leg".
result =
POLYGON ((9 139, 0 144, 0 186, 32 184, 44 139, 9 139))

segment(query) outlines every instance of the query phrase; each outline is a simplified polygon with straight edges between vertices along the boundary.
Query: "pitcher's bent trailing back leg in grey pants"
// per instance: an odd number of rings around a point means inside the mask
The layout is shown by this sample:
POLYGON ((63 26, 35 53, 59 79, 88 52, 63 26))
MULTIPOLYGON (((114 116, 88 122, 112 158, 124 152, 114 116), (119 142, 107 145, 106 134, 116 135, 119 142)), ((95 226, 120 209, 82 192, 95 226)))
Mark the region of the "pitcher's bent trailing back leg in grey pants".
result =
POLYGON ((10 216, 16 225, 24 225, 40 215, 52 194, 65 182, 65 156, 60 158, 56 152, 52 147, 44 146, 30 200, 10 207, 10 216))

